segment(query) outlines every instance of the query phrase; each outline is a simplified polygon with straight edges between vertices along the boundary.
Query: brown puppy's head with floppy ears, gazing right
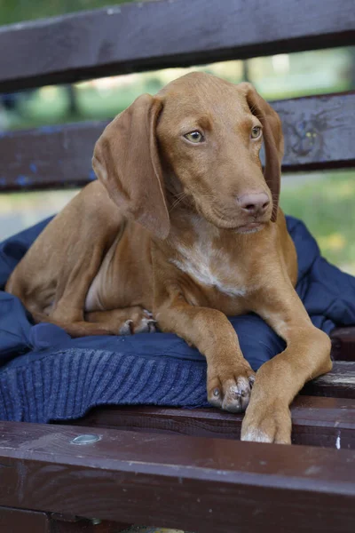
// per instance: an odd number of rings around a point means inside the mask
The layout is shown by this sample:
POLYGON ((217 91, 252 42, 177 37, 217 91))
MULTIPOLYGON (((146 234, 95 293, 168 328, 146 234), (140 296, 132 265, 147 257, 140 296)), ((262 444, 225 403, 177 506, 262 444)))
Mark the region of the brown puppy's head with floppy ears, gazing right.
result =
POLYGON ((280 118, 252 85, 192 73, 116 116, 92 164, 114 203, 165 238, 174 195, 240 233, 275 221, 282 155, 280 118))

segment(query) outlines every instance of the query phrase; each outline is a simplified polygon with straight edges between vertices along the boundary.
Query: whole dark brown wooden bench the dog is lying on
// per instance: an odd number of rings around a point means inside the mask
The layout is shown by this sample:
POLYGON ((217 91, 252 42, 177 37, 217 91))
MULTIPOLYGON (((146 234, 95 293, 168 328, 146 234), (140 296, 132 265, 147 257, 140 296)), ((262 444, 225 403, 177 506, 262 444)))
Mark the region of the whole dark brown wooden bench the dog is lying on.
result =
MULTIPOLYGON (((127 4, 0 28, 0 91, 350 44, 352 0, 127 4)), ((283 171, 355 166, 355 93, 274 107, 283 171)), ((0 192, 83 186, 104 125, 0 133, 0 192)), ((292 406, 292 446, 239 442, 241 416, 212 409, 110 407, 70 425, 0 422, 0 531, 114 533, 134 523, 352 532, 355 330, 332 340, 334 370, 292 406)))

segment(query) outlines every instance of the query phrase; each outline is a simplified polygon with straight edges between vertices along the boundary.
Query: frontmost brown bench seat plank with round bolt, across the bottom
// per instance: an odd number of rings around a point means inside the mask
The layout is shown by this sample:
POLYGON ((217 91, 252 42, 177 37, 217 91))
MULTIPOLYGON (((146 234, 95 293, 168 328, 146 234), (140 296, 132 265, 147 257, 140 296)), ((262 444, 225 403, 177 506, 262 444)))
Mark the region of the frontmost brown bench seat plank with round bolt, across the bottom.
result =
POLYGON ((100 428, 0 423, 0 502, 205 533, 336 531, 355 521, 355 454, 100 428))

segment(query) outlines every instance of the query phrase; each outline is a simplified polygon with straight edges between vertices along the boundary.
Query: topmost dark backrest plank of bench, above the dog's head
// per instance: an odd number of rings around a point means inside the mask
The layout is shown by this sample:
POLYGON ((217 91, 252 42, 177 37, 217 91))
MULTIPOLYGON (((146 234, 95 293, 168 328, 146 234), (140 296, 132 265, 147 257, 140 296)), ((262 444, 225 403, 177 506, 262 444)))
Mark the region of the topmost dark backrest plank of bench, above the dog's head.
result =
POLYGON ((0 28, 0 91, 354 43, 352 0, 164 0, 0 28))

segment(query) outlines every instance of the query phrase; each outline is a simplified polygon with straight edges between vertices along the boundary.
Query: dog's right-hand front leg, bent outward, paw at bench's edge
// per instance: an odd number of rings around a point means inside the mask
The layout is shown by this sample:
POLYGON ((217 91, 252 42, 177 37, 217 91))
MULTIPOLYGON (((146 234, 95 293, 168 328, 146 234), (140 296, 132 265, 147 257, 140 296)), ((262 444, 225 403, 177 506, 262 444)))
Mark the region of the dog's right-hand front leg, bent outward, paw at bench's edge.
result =
POLYGON ((257 299, 256 313, 284 338, 287 348, 256 372, 241 439, 289 443, 288 406, 307 381, 331 370, 330 339, 312 325, 290 283, 264 290, 257 299))

